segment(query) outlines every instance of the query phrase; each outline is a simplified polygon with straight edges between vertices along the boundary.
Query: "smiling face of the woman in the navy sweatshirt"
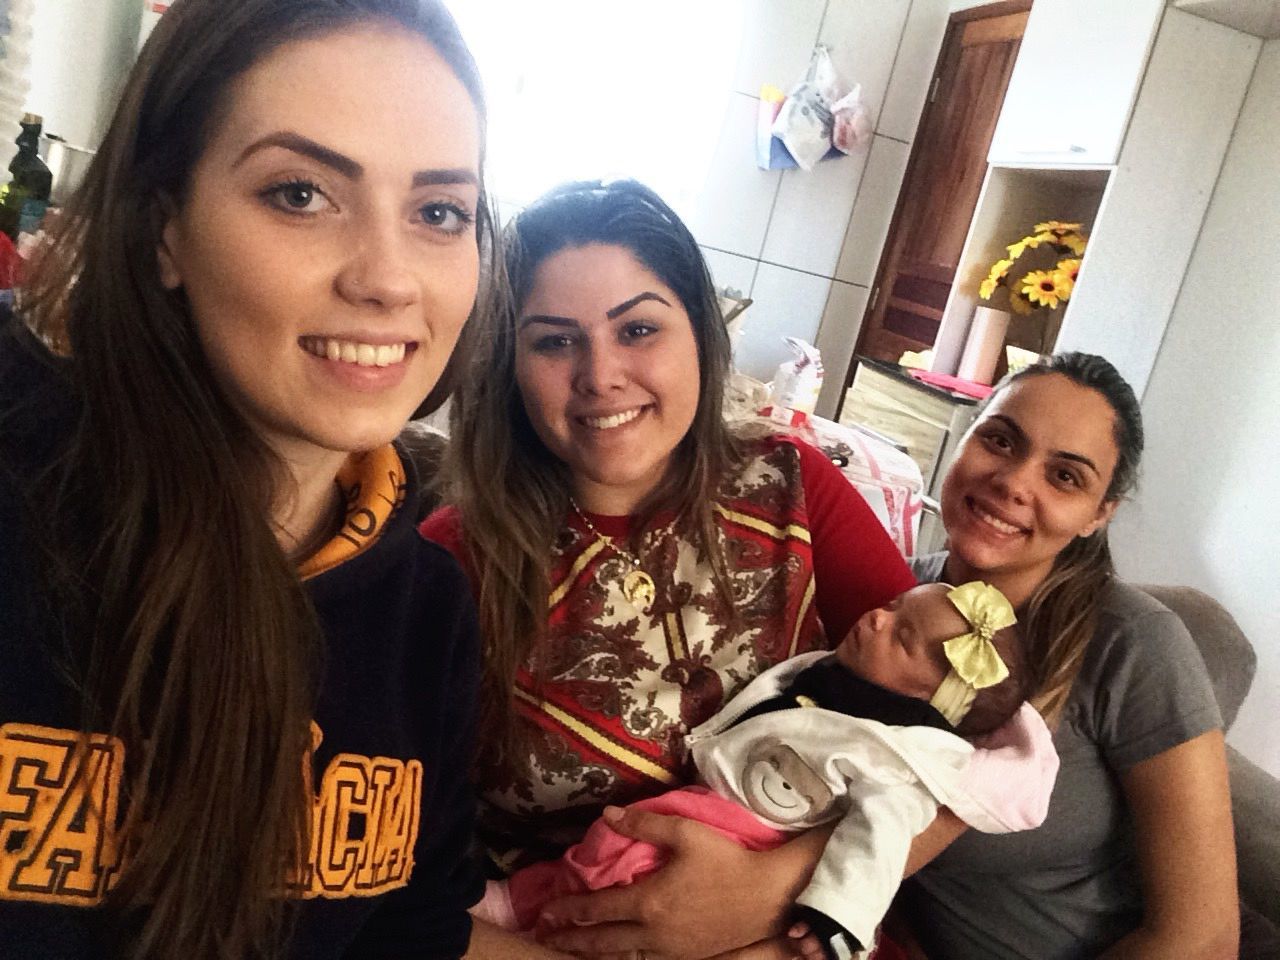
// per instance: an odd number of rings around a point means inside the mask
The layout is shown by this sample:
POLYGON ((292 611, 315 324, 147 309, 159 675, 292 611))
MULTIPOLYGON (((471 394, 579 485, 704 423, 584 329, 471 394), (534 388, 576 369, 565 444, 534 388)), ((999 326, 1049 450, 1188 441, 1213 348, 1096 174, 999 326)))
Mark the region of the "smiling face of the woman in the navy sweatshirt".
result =
POLYGON ((296 470, 389 442, 439 379, 476 294, 479 163, 466 88, 394 26, 285 44, 228 90, 161 279, 296 470))

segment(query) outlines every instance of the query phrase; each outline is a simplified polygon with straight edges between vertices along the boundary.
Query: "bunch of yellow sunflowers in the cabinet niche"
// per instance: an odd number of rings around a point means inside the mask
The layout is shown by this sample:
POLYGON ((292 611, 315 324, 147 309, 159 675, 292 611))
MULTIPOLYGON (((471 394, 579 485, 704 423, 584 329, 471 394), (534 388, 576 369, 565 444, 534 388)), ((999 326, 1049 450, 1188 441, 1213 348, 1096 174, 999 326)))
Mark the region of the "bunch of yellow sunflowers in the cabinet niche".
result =
POLYGON ((978 296, 996 305, 1007 301, 1019 316, 1052 312, 1071 298, 1087 244, 1078 223, 1038 223, 1030 234, 1009 244, 1007 257, 992 264, 978 296))

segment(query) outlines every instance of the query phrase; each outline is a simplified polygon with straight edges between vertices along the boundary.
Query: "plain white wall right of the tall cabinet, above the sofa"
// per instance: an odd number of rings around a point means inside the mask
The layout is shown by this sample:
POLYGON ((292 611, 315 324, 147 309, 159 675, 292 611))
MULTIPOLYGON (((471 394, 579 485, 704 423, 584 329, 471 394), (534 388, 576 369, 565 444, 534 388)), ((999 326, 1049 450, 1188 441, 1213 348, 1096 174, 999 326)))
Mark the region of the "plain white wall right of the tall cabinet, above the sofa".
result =
POLYGON ((1258 652, 1229 740, 1280 776, 1280 40, 1263 47, 1143 397, 1120 572, 1216 596, 1258 652))

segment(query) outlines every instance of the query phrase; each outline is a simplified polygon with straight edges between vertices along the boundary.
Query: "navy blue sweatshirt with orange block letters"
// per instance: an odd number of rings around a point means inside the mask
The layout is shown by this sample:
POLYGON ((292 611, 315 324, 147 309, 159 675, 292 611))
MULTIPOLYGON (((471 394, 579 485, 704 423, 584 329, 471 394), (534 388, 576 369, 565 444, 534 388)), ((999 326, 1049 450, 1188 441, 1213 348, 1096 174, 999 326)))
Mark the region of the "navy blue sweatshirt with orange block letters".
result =
MULTIPOLYGON (((20 340, 0 332, 0 959, 87 960, 104 956, 96 904, 120 869, 111 820, 128 745, 95 737, 96 803, 81 803, 68 763, 79 710, 63 645, 37 626, 47 618, 32 603, 31 515, 18 506, 69 410, 54 367, 20 340)), ((475 609, 453 558, 415 529, 417 483, 401 460, 403 500, 380 536, 305 584, 325 636, 316 828, 289 951, 306 960, 461 956, 483 892, 466 776, 475 609)))

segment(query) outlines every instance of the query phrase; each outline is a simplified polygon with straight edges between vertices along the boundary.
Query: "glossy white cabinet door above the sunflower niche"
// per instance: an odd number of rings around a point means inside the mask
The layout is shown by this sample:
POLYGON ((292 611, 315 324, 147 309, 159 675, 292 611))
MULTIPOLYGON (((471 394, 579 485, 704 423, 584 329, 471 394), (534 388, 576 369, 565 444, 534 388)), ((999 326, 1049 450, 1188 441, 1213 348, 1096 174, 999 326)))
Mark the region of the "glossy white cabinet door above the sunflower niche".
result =
POLYGON ((988 159, 1114 164, 1165 0, 1036 0, 988 159))

